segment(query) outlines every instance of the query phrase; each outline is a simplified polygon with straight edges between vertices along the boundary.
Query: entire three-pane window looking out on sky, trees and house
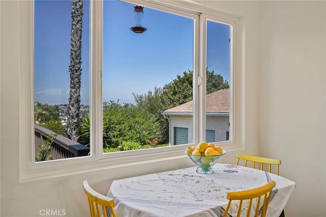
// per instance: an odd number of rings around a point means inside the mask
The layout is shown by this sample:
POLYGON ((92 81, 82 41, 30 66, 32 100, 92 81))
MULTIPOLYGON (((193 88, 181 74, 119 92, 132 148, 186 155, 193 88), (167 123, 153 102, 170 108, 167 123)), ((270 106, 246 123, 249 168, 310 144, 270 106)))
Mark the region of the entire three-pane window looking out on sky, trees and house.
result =
POLYGON ((72 138, 65 126, 69 92, 76 88, 67 73, 71 2, 34 1, 37 143, 32 159, 47 143, 53 144, 52 157, 111 162, 182 153, 186 144, 201 141, 234 144, 235 22, 186 7, 127 2, 83 3, 80 105, 75 108, 80 122, 72 138), (147 31, 141 34, 130 30, 135 4, 144 6, 147 31), (39 121, 46 115, 56 118, 57 128, 39 121), (68 149, 55 147, 63 142, 68 149))

